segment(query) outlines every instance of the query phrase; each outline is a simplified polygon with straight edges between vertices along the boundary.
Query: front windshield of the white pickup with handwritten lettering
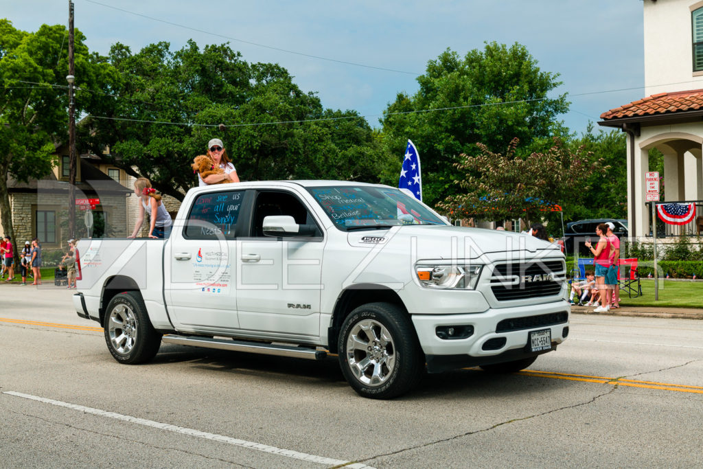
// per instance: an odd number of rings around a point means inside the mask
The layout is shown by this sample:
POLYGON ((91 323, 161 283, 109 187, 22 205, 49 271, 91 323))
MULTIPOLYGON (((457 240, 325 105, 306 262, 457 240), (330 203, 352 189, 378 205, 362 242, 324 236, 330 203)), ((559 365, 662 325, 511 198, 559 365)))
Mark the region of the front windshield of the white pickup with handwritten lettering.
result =
POLYGON ((396 225, 444 225, 436 214, 399 189, 373 186, 311 187, 308 191, 342 231, 396 225))

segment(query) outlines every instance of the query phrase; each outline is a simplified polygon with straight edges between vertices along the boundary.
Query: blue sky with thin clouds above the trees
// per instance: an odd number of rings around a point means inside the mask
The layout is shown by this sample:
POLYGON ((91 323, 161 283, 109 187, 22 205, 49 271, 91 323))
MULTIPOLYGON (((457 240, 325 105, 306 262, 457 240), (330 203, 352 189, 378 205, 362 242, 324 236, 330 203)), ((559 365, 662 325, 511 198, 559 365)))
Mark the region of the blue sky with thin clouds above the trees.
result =
MULTIPOLYGON (((117 41, 132 51, 157 41, 169 41, 172 50, 188 39, 200 46, 229 41, 247 62, 285 67, 325 108, 357 110, 375 127, 399 91, 415 93, 415 77, 425 72, 428 60, 448 47, 461 55, 482 49, 484 41, 517 41, 542 70, 560 73, 564 84, 554 94, 567 92, 572 102, 561 118, 579 134, 606 110, 644 96, 641 0, 74 3, 75 27, 91 51, 105 54, 117 41)), ((44 23, 67 25, 68 1, 0 0, 0 15, 30 32, 44 23)))

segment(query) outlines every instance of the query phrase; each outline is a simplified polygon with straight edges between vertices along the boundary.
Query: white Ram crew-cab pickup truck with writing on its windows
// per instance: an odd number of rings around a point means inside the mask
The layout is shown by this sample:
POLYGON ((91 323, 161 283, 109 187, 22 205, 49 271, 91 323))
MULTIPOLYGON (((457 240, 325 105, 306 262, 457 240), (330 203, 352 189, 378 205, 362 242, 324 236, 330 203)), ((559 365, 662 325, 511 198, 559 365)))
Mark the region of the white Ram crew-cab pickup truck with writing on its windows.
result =
POLYGON ((79 242, 79 316, 117 361, 160 343, 323 359, 364 397, 424 371, 519 371, 569 333, 565 258, 451 226, 399 189, 342 181, 188 191, 171 237, 79 242))

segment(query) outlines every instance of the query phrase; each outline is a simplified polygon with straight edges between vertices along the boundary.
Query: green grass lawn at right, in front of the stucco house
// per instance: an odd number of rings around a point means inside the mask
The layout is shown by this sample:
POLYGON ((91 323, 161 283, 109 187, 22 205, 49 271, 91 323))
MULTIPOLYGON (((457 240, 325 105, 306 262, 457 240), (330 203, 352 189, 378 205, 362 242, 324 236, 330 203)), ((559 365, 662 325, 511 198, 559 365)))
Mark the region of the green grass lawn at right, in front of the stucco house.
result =
POLYGON ((642 278, 641 282, 643 295, 629 298, 621 292, 622 306, 703 308, 703 282, 660 279, 658 301, 654 301, 654 279, 642 278))

